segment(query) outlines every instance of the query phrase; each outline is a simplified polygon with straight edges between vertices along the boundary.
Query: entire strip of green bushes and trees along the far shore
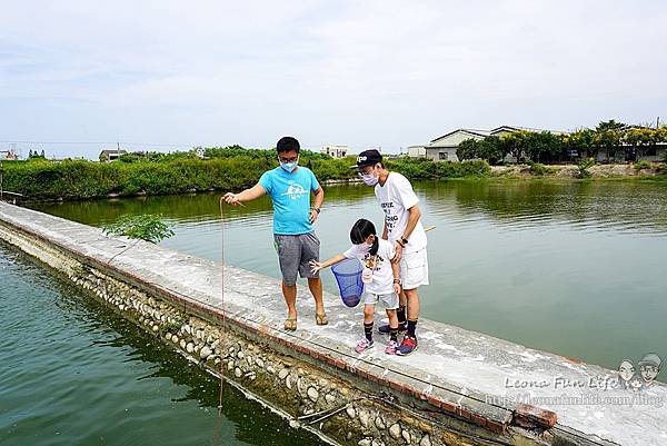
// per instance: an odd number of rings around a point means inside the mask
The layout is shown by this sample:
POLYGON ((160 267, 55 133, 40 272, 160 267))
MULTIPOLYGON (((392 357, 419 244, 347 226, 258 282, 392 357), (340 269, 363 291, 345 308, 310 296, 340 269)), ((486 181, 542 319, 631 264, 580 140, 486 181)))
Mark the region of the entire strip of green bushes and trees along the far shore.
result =
MULTIPOLYGON (((608 121, 595 130, 583 129, 568 135, 520 131, 501 138, 461 142, 457 152, 462 162, 406 156, 391 158, 387 165, 409 179, 667 180, 667 155, 661 162, 637 160, 667 142, 667 128, 624 126, 608 121), (611 156, 609 163, 600 162, 600 151, 611 156), (575 159, 571 158, 574 152, 577 152, 575 159), (508 153, 519 162, 507 163, 508 153)), ((354 157, 336 159, 303 150, 300 163, 311 168, 325 184, 357 179, 349 168, 354 157)), ((252 186, 263 171, 276 166, 273 150, 240 146, 173 153, 132 152, 112 162, 53 161, 36 152, 27 160, 2 161, 0 188, 37 200, 238 190, 252 186)))

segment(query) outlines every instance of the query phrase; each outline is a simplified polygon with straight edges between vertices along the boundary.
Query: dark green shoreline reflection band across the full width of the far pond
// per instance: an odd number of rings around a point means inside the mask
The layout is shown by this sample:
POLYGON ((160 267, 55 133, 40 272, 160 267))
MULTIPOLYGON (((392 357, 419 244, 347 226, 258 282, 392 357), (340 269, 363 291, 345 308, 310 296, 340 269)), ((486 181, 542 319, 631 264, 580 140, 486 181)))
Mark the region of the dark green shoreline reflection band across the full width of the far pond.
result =
MULTIPOLYGON (((667 184, 635 181, 418 181, 415 188, 427 218, 442 216, 450 225, 480 219, 506 229, 565 224, 579 230, 667 231, 667 184)), ((374 200, 362 185, 326 189, 325 208, 362 210, 374 200)), ((182 224, 197 225, 220 218, 220 194, 136 197, 31 207, 88 225, 102 225, 123 214, 161 214, 182 224)), ((226 218, 256 224, 271 216, 267 197, 226 208, 226 218)), ((325 214, 326 216, 326 214, 325 214)), ((437 218, 436 218, 437 219, 437 218)))

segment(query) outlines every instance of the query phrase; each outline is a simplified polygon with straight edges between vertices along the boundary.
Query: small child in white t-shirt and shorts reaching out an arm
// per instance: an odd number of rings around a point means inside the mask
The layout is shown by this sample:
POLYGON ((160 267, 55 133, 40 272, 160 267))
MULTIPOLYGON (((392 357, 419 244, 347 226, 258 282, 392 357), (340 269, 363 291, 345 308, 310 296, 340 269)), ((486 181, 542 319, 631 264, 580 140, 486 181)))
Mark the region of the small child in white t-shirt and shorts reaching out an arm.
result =
POLYGON ((364 264, 364 334, 366 335, 355 350, 362 353, 374 346, 372 325, 375 306, 378 300, 382 301, 387 316, 389 317, 389 344, 385 349, 387 355, 395 355, 398 347, 398 318, 396 309, 398 308, 398 295, 400 294, 399 266, 392 264, 391 259, 396 254, 394 246, 381 239, 376 234, 372 222, 360 219, 357 220, 350 230, 350 240, 354 246, 327 261, 312 260, 310 266, 313 271, 330 267, 345 259, 358 258, 364 264))

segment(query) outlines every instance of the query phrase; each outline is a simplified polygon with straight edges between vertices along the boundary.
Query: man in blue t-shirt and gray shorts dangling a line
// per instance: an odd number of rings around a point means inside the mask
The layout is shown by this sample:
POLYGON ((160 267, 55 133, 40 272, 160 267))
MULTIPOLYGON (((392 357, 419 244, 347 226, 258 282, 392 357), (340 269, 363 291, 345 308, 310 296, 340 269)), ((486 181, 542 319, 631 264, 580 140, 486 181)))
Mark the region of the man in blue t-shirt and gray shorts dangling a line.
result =
POLYGON ((308 278, 315 297, 315 320, 327 325, 322 303, 322 283, 319 272, 312 272, 311 260, 319 260, 319 239, 312 225, 317 220, 325 191, 312 171, 299 166, 299 141, 292 137, 280 138, 276 145, 280 166, 266 171, 259 182, 240 194, 227 192, 222 199, 229 205, 240 205, 262 195, 273 202, 273 242, 282 272, 282 295, 287 303, 285 329, 297 329, 297 274, 308 278), (310 206, 310 194, 315 204, 310 206))

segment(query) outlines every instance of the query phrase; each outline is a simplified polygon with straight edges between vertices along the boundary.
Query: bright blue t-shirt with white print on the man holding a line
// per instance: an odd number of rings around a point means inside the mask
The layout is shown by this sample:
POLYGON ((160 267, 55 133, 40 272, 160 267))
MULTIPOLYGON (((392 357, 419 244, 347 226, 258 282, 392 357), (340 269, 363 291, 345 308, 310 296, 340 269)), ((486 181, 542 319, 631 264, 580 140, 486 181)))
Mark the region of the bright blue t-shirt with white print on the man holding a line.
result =
POLYGON ((295 236, 312 232, 310 192, 319 188, 312 171, 299 166, 289 174, 278 166, 259 179, 273 201, 273 234, 295 236))

